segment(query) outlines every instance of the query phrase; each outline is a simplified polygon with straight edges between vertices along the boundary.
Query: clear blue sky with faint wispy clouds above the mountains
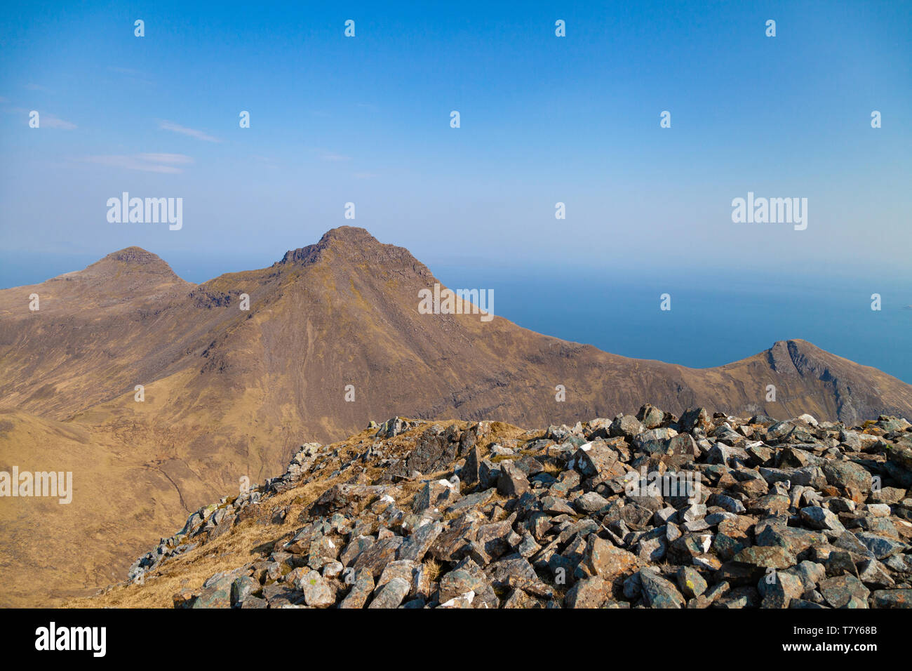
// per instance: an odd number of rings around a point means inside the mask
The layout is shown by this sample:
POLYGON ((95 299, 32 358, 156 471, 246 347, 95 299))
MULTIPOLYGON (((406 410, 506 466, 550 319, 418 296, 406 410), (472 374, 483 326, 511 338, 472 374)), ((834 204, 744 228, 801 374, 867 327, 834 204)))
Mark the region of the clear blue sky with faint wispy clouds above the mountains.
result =
POLYGON ((908 272, 910 45, 896 1, 5 3, 2 285, 130 245, 201 281, 344 224, 431 269, 908 272), (183 227, 109 223, 124 191, 183 227), (732 223, 749 191, 807 229, 732 223))

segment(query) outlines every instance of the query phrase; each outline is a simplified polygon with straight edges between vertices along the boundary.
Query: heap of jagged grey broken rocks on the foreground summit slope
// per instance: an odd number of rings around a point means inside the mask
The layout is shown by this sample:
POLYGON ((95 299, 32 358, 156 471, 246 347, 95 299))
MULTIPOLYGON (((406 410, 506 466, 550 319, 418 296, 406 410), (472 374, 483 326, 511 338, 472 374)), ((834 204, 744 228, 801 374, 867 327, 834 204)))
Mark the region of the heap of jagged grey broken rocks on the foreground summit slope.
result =
POLYGON ((504 426, 394 418, 354 456, 302 446, 283 477, 194 513, 130 581, 247 523, 282 533, 175 606, 912 607, 905 419, 645 405, 514 437, 504 426), (329 479, 303 508, 268 505, 329 479))

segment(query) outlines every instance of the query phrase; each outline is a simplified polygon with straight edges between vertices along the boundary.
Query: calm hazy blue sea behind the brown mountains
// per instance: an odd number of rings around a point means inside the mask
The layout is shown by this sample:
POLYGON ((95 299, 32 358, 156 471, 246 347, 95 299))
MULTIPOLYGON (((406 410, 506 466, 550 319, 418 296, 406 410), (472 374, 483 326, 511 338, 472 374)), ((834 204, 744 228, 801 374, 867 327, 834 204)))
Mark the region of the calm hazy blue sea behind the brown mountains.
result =
MULTIPOLYGON (((88 266, 98 257, 39 259, 0 254, 0 288, 36 283, 88 266)), ((274 258, 166 259, 182 278, 202 282, 223 272, 269 266, 274 258)), ((573 261, 528 267, 430 264, 451 288, 494 289, 494 313, 568 341, 637 359, 703 368, 734 362, 801 338, 826 351, 912 383, 912 274, 876 268, 855 277, 576 268, 573 261), (671 309, 659 296, 671 295, 671 309), (871 294, 882 297, 871 309, 871 294)))

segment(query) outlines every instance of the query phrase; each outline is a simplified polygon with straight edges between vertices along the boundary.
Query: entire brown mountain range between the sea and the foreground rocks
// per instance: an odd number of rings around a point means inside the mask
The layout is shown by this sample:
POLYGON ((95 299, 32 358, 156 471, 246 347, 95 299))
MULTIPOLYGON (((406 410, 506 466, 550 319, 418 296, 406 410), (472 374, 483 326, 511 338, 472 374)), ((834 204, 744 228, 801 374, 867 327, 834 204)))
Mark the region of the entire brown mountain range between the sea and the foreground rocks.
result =
POLYGON ((912 416, 912 387, 804 341, 703 370, 631 360, 499 317, 420 314, 418 292, 436 281, 406 249, 346 226, 272 267, 199 286, 130 247, 85 270, 0 291, 0 411, 15 414, 0 432, 5 464, 58 468, 42 460, 62 450, 84 456, 72 468, 70 506, 80 511, 68 528, 57 526, 63 513, 21 503, 14 510, 0 499, 3 554, 16 553, 0 571, 5 603, 106 584, 108 575, 93 571, 124 571, 190 511, 236 491, 240 477, 261 481, 300 443, 335 440, 370 419, 540 425, 635 412, 644 400, 676 414, 706 405, 847 423, 912 416), (31 293, 41 300, 36 312, 31 293), (558 384, 564 403, 554 399, 558 384), (777 403, 765 401, 768 384, 777 403), (86 439, 65 442, 60 426, 86 439), (155 484, 137 474, 157 474, 148 475, 155 484), (115 500, 95 495, 112 485, 122 490, 115 500), (37 538, 53 529, 73 550, 28 545, 24 529, 37 538), (122 548, 133 550, 118 563, 122 548), (16 572, 29 562, 37 568, 16 572), (61 570, 74 562, 77 570, 61 570), (15 597, 5 589, 13 582, 35 586, 15 597))

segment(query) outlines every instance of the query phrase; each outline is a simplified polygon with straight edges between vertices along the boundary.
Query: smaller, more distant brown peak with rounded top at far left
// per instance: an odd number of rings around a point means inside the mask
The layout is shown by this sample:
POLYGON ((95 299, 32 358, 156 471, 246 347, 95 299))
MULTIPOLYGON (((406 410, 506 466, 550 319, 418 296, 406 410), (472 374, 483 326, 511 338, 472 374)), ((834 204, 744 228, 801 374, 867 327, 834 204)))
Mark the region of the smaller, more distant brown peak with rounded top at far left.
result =
POLYGON ((78 272, 0 291, 0 407, 65 419, 167 371, 193 329, 169 309, 193 285, 128 247, 78 272), (29 308, 37 294, 38 310, 29 308))

